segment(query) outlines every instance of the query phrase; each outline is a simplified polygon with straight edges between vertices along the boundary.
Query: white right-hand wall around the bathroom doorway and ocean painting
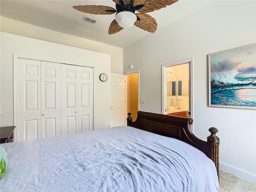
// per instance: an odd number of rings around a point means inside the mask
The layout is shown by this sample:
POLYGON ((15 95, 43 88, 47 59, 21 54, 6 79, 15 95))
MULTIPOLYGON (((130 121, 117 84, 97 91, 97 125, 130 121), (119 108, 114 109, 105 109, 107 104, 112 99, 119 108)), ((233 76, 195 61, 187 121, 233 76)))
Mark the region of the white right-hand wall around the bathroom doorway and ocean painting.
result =
POLYGON ((206 140, 218 128, 220 168, 256 183, 256 110, 209 107, 207 62, 210 53, 253 43, 256 1, 214 1, 124 48, 124 73, 130 64, 140 70, 140 110, 161 113, 161 65, 194 58, 194 134, 206 140))

